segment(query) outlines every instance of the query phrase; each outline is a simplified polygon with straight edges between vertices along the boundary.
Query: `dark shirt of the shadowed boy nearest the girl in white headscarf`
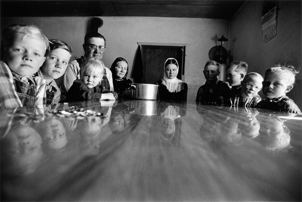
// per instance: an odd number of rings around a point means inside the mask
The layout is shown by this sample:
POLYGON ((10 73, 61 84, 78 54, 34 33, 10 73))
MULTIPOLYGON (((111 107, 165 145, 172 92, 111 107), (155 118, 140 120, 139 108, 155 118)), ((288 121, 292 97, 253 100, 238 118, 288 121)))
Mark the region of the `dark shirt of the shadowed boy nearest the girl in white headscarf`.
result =
POLYGON ((220 97, 220 89, 228 86, 226 82, 217 79, 214 85, 210 85, 207 81, 198 88, 195 102, 196 104, 218 104, 220 97))

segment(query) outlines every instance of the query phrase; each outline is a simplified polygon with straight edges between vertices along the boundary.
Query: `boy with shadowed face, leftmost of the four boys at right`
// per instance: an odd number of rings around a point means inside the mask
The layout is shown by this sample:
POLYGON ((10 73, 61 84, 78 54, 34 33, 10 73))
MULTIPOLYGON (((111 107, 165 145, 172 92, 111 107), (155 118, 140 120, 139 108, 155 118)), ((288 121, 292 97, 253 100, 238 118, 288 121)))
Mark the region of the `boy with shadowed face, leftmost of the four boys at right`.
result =
POLYGON ((207 80, 204 85, 198 88, 196 104, 218 104, 219 89, 222 85, 227 86, 226 82, 217 79, 219 75, 219 63, 209 60, 204 66, 204 77, 207 80))

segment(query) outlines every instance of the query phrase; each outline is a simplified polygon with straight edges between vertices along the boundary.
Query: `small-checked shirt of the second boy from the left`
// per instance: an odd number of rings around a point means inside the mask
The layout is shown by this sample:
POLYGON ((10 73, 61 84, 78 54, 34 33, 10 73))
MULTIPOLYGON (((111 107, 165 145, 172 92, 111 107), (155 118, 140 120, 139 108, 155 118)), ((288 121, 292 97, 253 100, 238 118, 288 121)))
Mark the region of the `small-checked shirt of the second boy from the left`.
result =
MULTIPOLYGON (((45 78, 41 70, 39 69, 35 76, 45 78)), ((50 84, 46 84, 46 104, 58 104, 60 101, 61 91, 57 86, 55 80, 52 80, 50 84)))

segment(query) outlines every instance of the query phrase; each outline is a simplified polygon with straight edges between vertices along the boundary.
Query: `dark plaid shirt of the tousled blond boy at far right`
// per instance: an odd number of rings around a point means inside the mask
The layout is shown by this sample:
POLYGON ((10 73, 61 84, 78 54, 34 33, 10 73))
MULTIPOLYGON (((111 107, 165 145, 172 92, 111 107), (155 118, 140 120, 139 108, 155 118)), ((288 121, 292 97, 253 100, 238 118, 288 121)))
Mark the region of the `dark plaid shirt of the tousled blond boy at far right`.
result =
POLYGON ((286 95, 273 99, 265 98, 264 100, 260 101, 256 107, 260 109, 301 114, 299 107, 286 95))

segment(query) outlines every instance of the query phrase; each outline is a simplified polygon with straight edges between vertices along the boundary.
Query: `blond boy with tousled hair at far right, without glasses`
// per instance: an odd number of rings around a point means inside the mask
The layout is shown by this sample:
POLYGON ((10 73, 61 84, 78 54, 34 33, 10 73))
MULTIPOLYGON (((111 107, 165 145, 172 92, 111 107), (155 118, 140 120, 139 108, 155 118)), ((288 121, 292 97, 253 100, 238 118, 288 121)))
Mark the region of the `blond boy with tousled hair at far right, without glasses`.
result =
POLYGON ((286 96, 293 89, 295 76, 299 73, 293 66, 275 65, 265 71, 262 91, 265 99, 258 108, 301 114, 294 101, 286 96))

